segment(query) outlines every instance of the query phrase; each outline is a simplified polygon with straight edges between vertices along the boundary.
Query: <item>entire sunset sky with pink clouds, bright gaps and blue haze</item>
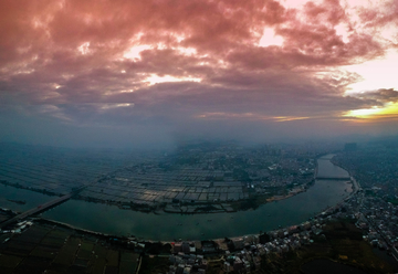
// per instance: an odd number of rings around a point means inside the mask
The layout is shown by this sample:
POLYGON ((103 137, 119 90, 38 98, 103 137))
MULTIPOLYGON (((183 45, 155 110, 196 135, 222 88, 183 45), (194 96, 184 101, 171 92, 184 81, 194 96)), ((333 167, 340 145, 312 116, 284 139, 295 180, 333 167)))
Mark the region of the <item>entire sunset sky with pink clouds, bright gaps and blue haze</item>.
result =
POLYGON ((0 141, 396 135, 397 0, 2 0, 0 141))

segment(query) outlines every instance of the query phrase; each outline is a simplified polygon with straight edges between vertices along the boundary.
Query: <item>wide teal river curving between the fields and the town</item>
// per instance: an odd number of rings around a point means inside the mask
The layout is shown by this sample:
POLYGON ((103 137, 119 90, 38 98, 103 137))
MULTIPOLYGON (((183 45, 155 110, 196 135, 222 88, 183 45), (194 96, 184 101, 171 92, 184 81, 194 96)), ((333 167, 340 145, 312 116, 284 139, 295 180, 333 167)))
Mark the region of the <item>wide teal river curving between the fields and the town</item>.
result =
MULTIPOLYGON (((320 160, 323 161, 323 159, 320 160)), ((334 166, 329 160, 323 161, 320 168, 336 170, 338 177, 346 172, 344 169, 334 166)), ((6 187, 1 186, 1 188, 6 187)), ((276 229, 279 225, 286 226, 302 223, 325 208, 335 205, 348 197, 350 192, 352 185, 346 181, 316 180, 315 185, 307 191, 292 198, 263 204, 256 210, 234 213, 154 214, 121 210, 117 207, 102 203, 70 200, 44 212, 42 215, 86 230, 118 235, 135 235, 142 239, 163 241, 219 239, 255 234, 260 231, 276 229)), ((42 196, 46 200, 51 199, 51 197, 40 193, 33 192, 32 194, 30 192, 30 194, 35 197, 34 199, 38 196, 42 196)), ((27 200, 28 204, 30 198, 14 196, 12 199, 27 200)), ((10 205, 11 209, 14 209, 19 204, 10 205)))

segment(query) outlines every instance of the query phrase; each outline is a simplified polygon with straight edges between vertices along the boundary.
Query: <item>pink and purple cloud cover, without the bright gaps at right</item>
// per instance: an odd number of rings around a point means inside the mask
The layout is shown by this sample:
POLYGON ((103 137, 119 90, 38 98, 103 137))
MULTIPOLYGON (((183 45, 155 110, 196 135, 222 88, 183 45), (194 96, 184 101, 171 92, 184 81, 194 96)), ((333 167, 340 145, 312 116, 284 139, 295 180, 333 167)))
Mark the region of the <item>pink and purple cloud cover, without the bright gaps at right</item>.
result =
POLYGON ((335 72, 383 56, 398 33, 394 1, 379 10, 348 10, 338 0, 297 9, 273 0, 1 6, 2 115, 23 115, 22 106, 25 115, 76 125, 182 128, 203 123, 197 117, 206 113, 230 115, 231 126, 248 113, 338 120, 349 109, 380 105, 386 93, 345 96, 360 76, 335 72), (264 28, 281 46, 259 46, 264 28), (150 84, 154 76, 175 82, 150 84))

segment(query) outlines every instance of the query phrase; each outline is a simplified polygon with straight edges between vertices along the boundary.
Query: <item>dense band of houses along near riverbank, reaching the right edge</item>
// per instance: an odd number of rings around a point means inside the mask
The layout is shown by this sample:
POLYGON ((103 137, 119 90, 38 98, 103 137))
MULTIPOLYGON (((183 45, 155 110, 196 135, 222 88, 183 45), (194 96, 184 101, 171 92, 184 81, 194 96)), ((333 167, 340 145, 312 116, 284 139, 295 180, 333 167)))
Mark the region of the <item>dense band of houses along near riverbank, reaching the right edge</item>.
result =
POLYGON ((321 234, 327 221, 338 218, 356 220, 356 225, 363 229, 366 241, 374 246, 389 250, 398 261, 398 207, 381 198, 364 196, 364 192, 359 191, 300 225, 262 235, 214 240, 211 252, 197 249, 196 242, 175 243, 168 274, 205 273, 211 262, 206 257, 211 253, 218 254, 219 260, 222 260, 226 273, 249 273, 261 267, 264 255, 282 254, 311 244, 312 235, 321 234))

